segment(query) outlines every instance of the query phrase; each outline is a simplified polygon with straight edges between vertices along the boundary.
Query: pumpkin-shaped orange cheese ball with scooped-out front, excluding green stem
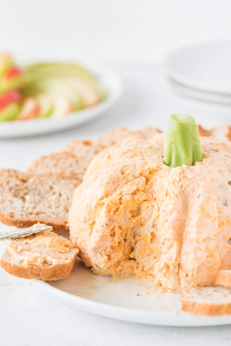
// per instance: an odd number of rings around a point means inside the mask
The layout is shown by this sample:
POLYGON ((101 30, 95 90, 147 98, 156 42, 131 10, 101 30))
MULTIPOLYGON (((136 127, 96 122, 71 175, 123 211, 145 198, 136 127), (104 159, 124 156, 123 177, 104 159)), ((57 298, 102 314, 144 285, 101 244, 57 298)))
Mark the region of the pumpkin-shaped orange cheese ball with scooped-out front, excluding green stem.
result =
POLYGON ((201 151, 202 162, 169 167, 158 134, 94 157, 68 219, 94 273, 135 273, 180 290, 231 269, 231 144, 201 137, 201 151))

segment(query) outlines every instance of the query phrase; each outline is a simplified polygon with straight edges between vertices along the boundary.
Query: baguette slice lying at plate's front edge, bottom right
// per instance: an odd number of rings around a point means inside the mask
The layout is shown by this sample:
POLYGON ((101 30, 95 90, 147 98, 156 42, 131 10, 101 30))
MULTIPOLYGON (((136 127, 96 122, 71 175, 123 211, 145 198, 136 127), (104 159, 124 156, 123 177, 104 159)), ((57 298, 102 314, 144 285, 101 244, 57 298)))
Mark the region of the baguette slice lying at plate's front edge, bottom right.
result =
POLYGON ((231 314, 231 288, 204 286, 182 291, 182 310, 204 316, 231 314))

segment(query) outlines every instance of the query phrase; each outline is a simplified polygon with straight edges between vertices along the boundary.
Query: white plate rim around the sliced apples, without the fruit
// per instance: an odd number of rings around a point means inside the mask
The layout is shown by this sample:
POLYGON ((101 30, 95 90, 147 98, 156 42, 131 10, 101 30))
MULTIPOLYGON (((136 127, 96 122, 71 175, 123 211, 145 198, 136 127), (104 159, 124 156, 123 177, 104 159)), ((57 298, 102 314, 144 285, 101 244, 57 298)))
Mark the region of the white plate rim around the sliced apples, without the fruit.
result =
POLYGON ((119 76, 113 71, 93 63, 80 63, 80 65, 89 70, 105 87, 108 92, 105 100, 95 106, 69 113, 63 118, 2 121, 0 122, 0 138, 24 137, 64 130, 89 122, 108 111, 118 101, 122 93, 122 82, 119 76))

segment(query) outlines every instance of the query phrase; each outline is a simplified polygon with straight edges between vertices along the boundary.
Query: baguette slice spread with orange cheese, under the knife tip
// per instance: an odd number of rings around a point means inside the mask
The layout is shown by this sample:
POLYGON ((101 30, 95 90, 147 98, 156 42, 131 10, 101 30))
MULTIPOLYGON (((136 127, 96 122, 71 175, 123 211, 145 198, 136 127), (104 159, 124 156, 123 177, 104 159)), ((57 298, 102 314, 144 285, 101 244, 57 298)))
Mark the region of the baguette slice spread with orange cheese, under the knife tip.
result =
POLYGON ((52 231, 7 240, 1 267, 24 279, 59 280, 71 274, 78 249, 52 231))

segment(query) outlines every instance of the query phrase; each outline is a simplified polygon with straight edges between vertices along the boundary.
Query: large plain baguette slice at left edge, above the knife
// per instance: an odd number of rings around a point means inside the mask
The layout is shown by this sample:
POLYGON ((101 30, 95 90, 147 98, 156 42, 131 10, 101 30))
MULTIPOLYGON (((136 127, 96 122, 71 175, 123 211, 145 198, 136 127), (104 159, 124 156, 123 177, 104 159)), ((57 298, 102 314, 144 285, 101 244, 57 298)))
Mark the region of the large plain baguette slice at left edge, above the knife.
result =
POLYGON ((37 222, 68 230, 67 217, 78 183, 62 176, 0 176, 0 221, 17 227, 37 222))

